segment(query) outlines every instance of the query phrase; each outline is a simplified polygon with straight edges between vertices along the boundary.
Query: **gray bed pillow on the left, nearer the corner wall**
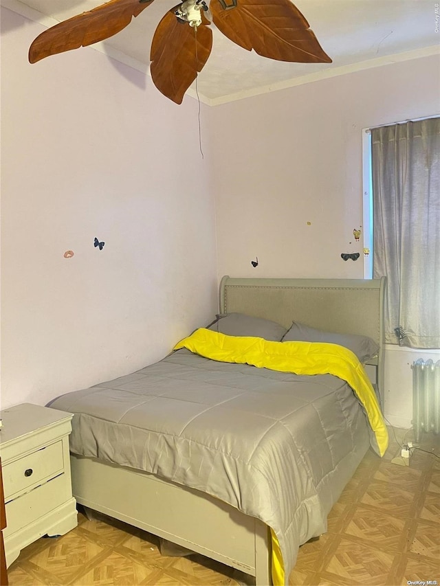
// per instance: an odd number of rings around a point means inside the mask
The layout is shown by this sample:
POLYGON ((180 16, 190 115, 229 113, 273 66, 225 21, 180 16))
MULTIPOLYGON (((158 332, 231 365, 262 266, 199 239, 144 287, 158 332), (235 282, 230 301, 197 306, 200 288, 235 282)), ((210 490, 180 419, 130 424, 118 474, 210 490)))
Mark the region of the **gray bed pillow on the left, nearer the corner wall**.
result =
POLYGON ((275 342, 281 341, 286 328, 263 317, 252 317, 244 313, 223 313, 217 315, 215 322, 207 326, 208 330, 228 336, 255 336, 275 342))

